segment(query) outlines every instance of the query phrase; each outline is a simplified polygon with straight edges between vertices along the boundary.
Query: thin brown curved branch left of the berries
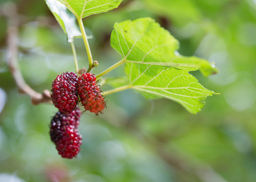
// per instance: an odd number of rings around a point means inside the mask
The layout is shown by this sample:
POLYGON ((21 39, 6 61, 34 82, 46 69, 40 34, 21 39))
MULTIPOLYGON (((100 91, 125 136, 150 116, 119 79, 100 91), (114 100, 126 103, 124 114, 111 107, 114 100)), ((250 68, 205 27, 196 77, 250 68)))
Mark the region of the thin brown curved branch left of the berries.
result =
POLYGON ((4 14, 8 20, 7 29, 7 55, 9 62, 9 69, 18 86, 20 93, 26 93, 31 97, 32 104, 51 103, 51 95, 49 90, 44 90, 43 93, 35 92, 24 81, 23 75, 18 68, 18 14, 17 7, 13 2, 4 4, 4 14))

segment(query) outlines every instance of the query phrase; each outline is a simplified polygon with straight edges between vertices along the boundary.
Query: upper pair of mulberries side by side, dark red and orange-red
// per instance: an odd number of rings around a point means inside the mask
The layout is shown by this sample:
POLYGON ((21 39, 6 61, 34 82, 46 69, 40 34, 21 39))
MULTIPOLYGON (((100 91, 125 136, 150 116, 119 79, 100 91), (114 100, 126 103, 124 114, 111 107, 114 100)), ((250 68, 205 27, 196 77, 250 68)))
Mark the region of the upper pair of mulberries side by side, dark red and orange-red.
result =
POLYGON ((84 73, 77 78, 73 72, 62 73, 52 82, 51 98, 60 112, 72 112, 80 101, 85 110, 98 115, 106 107, 96 76, 84 73))

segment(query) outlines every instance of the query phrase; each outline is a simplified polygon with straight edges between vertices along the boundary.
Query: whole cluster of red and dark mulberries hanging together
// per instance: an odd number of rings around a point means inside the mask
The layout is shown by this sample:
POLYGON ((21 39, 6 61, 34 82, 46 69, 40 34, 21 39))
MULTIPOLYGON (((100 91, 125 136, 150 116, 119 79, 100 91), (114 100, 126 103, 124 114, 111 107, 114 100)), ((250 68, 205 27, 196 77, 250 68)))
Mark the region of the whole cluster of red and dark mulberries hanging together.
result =
POLYGON ((73 158, 80 151, 82 136, 78 133, 81 102, 85 110, 99 115, 106 107, 96 76, 84 73, 77 78, 76 73, 66 72, 52 81, 51 98, 59 112, 51 120, 50 136, 63 158, 73 158))

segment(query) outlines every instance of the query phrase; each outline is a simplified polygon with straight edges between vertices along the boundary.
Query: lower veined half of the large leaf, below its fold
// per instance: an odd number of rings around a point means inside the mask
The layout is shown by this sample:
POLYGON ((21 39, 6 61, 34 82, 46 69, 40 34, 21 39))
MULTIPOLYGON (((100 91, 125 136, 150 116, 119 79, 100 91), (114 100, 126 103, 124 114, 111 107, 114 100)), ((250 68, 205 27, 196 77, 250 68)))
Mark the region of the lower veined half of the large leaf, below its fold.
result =
POLYGON ((149 64, 126 64, 130 88, 140 91, 146 98, 168 98, 181 104, 191 113, 204 106, 213 91, 205 89, 187 70, 149 64))

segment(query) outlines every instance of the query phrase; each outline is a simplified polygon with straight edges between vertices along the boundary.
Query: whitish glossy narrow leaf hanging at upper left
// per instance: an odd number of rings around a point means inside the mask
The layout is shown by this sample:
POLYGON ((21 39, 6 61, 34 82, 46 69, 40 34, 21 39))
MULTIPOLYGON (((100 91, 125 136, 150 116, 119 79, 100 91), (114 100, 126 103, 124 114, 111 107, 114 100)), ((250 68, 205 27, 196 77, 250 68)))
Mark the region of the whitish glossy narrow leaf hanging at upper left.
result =
POLYGON ((73 15, 62 3, 57 0, 45 0, 54 17, 66 33, 67 41, 73 42, 74 38, 82 37, 76 24, 76 16, 73 15))

